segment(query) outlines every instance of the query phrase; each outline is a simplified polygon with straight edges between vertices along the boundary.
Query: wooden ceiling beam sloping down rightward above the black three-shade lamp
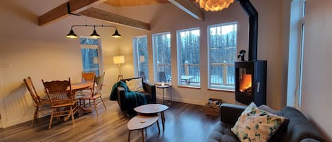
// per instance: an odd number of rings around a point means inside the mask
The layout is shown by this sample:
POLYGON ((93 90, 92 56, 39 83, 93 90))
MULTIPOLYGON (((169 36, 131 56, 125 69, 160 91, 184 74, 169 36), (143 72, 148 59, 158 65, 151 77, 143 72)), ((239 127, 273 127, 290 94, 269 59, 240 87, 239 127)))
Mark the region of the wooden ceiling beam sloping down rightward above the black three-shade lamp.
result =
POLYGON ((120 16, 115 13, 110 13, 108 11, 103 11, 98 8, 88 8, 84 11, 81 11, 79 14, 91 18, 96 18, 99 20, 105 20, 110 23, 118 23, 121 25, 127 25, 132 28, 139 28, 143 30, 150 30, 150 24, 149 23, 144 23, 139 20, 134 20, 132 18, 127 18, 125 16, 120 16))

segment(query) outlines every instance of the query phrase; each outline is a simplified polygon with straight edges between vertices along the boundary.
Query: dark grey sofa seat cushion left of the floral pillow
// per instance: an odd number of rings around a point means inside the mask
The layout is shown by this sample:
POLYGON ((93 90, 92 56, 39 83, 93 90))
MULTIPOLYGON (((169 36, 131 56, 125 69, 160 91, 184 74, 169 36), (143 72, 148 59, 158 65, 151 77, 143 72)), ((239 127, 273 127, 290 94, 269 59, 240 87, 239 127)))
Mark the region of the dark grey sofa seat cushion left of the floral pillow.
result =
POLYGON ((224 122, 218 122, 212 133, 207 138, 207 142, 216 142, 216 141, 227 141, 227 142, 238 142, 239 139, 231 132, 231 124, 224 122))

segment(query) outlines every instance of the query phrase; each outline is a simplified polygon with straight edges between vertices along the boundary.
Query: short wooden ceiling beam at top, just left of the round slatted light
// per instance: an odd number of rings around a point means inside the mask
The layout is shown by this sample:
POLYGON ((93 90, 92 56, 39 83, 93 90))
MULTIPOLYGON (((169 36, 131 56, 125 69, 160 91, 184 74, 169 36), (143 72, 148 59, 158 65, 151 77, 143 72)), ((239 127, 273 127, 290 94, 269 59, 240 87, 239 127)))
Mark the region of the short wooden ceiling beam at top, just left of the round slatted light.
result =
POLYGON ((168 1, 178 6, 178 8, 181 8, 181 10, 185 11, 190 16, 193 16, 193 18, 196 18, 197 20, 204 20, 204 11, 202 11, 202 9, 196 6, 193 3, 193 0, 168 0, 168 1))

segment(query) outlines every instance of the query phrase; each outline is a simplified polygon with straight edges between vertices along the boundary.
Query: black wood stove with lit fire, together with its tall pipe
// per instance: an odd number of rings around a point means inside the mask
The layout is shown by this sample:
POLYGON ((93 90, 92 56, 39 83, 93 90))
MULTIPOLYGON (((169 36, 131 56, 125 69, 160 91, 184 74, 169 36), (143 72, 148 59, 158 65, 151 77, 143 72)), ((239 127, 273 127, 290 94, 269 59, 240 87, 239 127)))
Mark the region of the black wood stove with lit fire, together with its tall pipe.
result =
POLYGON ((248 61, 235 61, 235 100, 266 104, 266 64, 257 60, 258 12, 249 0, 238 0, 249 16, 248 61))

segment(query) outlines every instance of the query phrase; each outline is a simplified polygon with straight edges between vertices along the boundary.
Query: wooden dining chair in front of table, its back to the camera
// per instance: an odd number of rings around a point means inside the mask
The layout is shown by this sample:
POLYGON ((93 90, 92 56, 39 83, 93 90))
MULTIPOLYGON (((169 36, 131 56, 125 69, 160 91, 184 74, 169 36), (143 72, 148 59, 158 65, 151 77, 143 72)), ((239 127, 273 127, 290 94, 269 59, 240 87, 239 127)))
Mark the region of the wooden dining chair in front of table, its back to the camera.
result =
POLYGON ((79 111, 79 105, 71 91, 70 78, 68 81, 48 81, 44 84, 45 91, 51 102, 52 113, 48 129, 52 126, 54 117, 63 117, 67 121, 71 117, 72 124, 75 124, 74 114, 79 111))

